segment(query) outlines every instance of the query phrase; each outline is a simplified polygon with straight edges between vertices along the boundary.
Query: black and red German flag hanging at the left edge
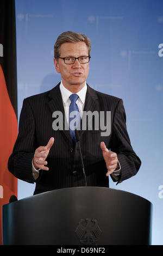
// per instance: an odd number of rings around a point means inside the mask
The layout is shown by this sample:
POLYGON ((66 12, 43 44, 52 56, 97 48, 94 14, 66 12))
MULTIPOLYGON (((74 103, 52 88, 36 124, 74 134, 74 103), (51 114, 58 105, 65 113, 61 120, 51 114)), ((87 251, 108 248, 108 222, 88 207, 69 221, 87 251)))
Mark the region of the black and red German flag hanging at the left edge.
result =
POLYGON ((17 138, 17 78, 15 0, 0 2, 0 244, 2 205, 17 197, 17 179, 8 170, 8 159, 17 138))

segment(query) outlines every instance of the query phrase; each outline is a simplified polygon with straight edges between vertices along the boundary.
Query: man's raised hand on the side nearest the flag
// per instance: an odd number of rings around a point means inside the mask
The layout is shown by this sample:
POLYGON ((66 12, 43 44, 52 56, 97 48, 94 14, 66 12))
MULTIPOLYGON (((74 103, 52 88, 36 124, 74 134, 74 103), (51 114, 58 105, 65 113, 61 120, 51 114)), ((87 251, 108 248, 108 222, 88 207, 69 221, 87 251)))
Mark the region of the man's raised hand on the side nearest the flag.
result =
POLYGON ((49 150, 51 149, 53 143, 54 143, 54 138, 51 137, 48 141, 48 144, 45 147, 40 146, 35 150, 35 154, 33 158, 33 165, 35 169, 49 170, 49 168, 45 166, 47 165, 47 161, 45 160, 49 154, 49 150))

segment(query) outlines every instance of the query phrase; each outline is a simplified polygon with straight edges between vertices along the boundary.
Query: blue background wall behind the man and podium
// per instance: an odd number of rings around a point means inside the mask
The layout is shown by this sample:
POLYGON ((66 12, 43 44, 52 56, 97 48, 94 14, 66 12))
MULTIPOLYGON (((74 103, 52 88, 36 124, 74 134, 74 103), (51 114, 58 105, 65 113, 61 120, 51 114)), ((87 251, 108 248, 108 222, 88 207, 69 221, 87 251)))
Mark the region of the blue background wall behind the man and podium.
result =
MULTIPOLYGON (((136 176, 118 186, 110 179, 110 187, 152 202, 153 245, 163 244, 162 9, 161 0, 16 0, 18 118, 25 97, 60 81, 53 64, 58 35, 89 36, 87 83, 123 99, 131 144, 142 160, 136 176)), ((34 187, 19 180, 18 199, 34 187)))

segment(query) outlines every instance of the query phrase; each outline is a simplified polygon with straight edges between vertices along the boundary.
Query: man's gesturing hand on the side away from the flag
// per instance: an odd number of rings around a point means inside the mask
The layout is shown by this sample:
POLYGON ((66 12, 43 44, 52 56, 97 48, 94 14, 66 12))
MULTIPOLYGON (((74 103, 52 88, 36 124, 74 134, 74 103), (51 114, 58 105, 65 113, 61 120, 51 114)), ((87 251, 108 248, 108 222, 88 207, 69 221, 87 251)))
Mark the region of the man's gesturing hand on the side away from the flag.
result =
POLYGON ((118 167, 117 154, 112 151, 109 151, 109 149, 106 148, 104 142, 101 142, 100 146, 103 151, 103 157, 106 163, 106 168, 109 170, 109 172, 106 173, 106 176, 109 176, 118 167))

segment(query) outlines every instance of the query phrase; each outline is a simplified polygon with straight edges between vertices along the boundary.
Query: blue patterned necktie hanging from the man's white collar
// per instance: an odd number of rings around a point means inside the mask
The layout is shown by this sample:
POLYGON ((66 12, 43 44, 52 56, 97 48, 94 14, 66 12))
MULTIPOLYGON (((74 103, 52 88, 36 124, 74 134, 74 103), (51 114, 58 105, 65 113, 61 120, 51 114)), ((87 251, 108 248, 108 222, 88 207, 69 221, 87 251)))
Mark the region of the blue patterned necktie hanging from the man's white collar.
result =
POLYGON ((69 129, 73 143, 76 143, 75 129, 79 130, 80 127, 80 113, 76 103, 78 97, 79 96, 75 93, 70 95, 71 104, 69 107, 69 129))

